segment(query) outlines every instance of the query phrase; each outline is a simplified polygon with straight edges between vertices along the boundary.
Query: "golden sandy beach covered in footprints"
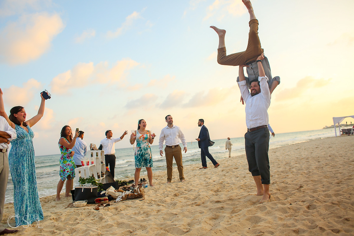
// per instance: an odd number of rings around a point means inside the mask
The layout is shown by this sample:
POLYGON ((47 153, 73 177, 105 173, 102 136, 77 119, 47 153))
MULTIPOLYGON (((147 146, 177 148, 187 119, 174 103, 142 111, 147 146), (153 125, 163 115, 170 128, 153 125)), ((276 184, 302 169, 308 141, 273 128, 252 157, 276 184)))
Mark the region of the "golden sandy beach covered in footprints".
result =
MULTIPOLYGON (((16 235, 354 235, 353 136, 317 139, 269 150, 271 201, 258 203, 246 155, 220 166, 154 172, 145 200, 101 208, 65 208, 71 198, 41 198, 44 220, 16 235)), ((5 204, 2 222, 14 215, 5 204)), ((14 225, 14 219, 10 220, 14 225)))

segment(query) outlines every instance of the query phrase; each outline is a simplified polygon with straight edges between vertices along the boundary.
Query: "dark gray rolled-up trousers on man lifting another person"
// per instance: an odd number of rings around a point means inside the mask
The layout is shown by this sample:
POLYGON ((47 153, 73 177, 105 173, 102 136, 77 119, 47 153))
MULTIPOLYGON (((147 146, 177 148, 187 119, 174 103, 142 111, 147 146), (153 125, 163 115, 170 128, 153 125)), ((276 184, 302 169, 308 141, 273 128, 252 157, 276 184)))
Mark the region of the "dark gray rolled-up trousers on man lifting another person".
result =
POLYGON ((261 128, 245 133, 245 149, 248 170, 252 176, 261 175, 262 184, 270 184, 269 171, 269 129, 261 128))

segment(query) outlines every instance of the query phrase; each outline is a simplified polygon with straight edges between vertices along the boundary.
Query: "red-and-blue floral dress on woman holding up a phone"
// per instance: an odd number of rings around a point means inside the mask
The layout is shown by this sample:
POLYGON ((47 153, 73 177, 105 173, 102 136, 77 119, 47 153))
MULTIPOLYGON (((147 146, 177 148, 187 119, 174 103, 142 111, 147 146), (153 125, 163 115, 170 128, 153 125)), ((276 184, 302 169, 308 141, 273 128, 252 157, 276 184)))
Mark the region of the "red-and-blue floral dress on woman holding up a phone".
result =
MULTIPOLYGON (((64 137, 62 137, 64 138, 64 137)), ((64 138, 68 143, 68 139, 64 138)), ((71 149, 65 148, 65 146, 59 144, 59 149, 61 152, 61 157, 60 157, 60 169, 59 169, 59 175, 60 179, 64 182, 65 179, 68 178, 70 175, 71 178, 73 179, 75 177, 75 161, 72 156, 70 156, 71 149)))

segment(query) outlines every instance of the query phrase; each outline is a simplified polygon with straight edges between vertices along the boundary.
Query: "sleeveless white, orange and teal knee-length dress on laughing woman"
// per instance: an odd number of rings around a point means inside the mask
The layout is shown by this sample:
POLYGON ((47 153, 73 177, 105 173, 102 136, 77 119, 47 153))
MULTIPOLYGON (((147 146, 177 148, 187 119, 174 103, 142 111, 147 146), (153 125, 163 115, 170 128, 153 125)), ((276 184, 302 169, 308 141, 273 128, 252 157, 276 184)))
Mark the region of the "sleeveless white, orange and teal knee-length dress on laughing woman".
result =
POLYGON ((146 131, 146 134, 136 131, 135 168, 153 167, 149 133, 149 130, 146 131))

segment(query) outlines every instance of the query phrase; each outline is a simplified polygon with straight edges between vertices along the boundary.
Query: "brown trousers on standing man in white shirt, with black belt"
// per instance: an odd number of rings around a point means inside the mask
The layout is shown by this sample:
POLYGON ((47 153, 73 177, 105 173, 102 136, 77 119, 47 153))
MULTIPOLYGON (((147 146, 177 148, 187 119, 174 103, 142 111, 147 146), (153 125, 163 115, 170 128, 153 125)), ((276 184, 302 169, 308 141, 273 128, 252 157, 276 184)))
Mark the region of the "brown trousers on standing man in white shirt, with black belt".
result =
POLYGON ((166 146, 165 147, 165 156, 166 156, 166 165, 167 165, 167 181, 171 182, 171 180, 172 180, 173 157, 175 157, 175 161, 177 164, 177 169, 178 169, 178 173, 179 173, 179 180, 184 180, 181 146, 178 145, 176 148, 169 148, 166 146))

